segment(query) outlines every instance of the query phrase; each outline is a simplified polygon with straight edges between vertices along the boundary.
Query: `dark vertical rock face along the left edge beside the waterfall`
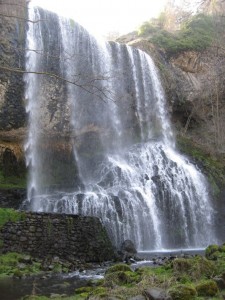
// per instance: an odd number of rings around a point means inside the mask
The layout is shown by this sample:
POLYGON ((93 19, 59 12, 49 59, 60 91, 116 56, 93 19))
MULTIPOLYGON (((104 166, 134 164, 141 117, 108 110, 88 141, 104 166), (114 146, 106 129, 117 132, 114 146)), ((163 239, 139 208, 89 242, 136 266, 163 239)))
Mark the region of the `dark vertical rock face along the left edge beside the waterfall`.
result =
MULTIPOLYGON (((0 166, 10 149, 24 160, 26 112, 24 100, 24 49, 26 0, 0 1, 0 166)), ((11 175, 15 175, 12 173, 11 175)))

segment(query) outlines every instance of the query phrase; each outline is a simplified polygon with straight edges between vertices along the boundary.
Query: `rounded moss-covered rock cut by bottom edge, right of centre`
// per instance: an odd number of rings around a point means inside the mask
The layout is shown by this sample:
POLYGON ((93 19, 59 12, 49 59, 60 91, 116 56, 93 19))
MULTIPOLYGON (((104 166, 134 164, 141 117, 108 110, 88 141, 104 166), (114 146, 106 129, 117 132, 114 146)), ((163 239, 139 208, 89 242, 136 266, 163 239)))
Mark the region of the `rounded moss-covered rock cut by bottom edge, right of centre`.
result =
POLYGON ((173 300, 193 300, 197 295, 196 289, 191 285, 179 284, 168 291, 173 300))

